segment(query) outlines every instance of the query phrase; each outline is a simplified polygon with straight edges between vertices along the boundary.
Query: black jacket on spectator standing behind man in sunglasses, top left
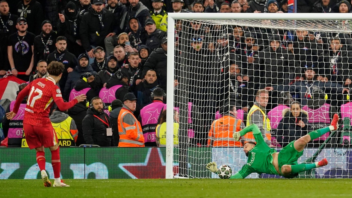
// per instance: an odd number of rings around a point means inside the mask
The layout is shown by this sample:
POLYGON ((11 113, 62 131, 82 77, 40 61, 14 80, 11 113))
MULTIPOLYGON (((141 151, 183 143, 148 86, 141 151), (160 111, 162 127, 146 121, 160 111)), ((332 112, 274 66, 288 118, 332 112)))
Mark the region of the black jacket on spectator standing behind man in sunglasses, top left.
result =
MULTIPOLYGON (((32 0, 28 5, 23 4, 24 0, 18 2, 17 15, 18 17, 24 17, 27 19, 28 31, 35 35, 39 35, 42 31, 42 22, 44 21, 43 6, 37 2, 37 0, 32 0), (27 10, 27 15, 22 14, 23 7, 27 10)), ((16 23, 16 21, 14 21, 16 23)))

